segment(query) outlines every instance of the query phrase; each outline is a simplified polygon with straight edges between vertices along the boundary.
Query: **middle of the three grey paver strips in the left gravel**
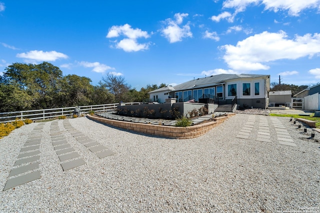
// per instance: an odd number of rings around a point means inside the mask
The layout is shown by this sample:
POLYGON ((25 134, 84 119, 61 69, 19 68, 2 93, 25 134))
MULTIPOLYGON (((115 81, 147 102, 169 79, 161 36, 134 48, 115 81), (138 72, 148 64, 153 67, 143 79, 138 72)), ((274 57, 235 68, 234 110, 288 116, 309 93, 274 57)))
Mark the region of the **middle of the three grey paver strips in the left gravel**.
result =
MULTIPOLYGON (((69 125, 71 127, 71 125, 69 125)), ((73 169, 75 167, 85 164, 85 161, 67 142, 63 135, 63 131, 60 131, 58 121, 52 121, 50 126, 50 135, 53 149, 57 154, 60 165, 63 171, 73 169)))

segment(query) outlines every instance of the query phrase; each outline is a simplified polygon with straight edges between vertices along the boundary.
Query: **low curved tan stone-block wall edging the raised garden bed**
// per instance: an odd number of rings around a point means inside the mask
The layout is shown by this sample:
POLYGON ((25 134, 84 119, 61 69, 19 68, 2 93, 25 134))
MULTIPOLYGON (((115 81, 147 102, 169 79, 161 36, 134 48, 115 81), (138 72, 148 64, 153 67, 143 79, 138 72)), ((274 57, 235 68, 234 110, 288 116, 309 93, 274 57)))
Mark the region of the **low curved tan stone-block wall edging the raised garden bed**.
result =
POLYGON ((132 130, 135 132, 141 132, 150 135, 169 137, 175 139, 188 139, 196 138, 211 130, 213 127, 224 122, 228 117, 235 115, 235 113, 225 114, 225 116, 213 118, 213 121, 206 122, 203 124, 197 124, 195 126, 189 127, 172 127, 172 126, 161 126, 153 124, 143 124, 143 123, 132 123, 127 121, 118 121, 103 118, 100 116, 87 115, 86 117, 98 121, 104 124, 112 125, 121 129, 132 130))

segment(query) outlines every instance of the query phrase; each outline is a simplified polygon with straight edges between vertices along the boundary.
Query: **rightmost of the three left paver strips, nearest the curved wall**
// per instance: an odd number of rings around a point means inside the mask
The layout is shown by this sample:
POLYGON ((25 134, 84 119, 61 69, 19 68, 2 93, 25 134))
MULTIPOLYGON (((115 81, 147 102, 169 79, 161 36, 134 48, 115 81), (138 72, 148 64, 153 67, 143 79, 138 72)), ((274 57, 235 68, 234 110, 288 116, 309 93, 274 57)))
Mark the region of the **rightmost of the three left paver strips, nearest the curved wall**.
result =
POLYGON ((63 121, 63 127, 75 138, 77 142, 88 148, 88 150, 94 153, 98 158, 105 158, 114 154, 114 152, 112 152, 105 146, 77 131, 71 126, 68 120, 63 121))

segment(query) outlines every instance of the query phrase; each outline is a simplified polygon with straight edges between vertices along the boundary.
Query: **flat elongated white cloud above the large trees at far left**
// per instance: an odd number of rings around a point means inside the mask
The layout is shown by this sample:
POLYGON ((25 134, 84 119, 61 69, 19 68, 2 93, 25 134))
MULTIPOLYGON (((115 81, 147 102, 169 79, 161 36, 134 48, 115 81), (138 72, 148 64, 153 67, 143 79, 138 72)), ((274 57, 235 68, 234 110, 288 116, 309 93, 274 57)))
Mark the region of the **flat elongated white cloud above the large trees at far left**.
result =
POLYGON ((49 52, 43 52, 42 50, 32 50, 26 53, 18 53, 16 54, 16 57, 18 58, 24 58, 27 60, 34 60, 34 61, 55 61, 59 58, 68 58, 67 55, 56 52, 56 51, 49 51, 49 52))

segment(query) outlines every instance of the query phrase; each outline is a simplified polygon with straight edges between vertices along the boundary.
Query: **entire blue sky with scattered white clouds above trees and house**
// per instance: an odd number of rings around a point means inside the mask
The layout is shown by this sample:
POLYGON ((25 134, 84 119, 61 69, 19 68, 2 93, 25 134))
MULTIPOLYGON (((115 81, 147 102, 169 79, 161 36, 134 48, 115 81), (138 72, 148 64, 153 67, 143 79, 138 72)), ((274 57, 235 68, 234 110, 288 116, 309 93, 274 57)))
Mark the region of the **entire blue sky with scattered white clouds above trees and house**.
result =
POLYGON ((58 66, 139 90, 220 73, 320 82, 320 0, 0 0, 0 74, 58 66))

